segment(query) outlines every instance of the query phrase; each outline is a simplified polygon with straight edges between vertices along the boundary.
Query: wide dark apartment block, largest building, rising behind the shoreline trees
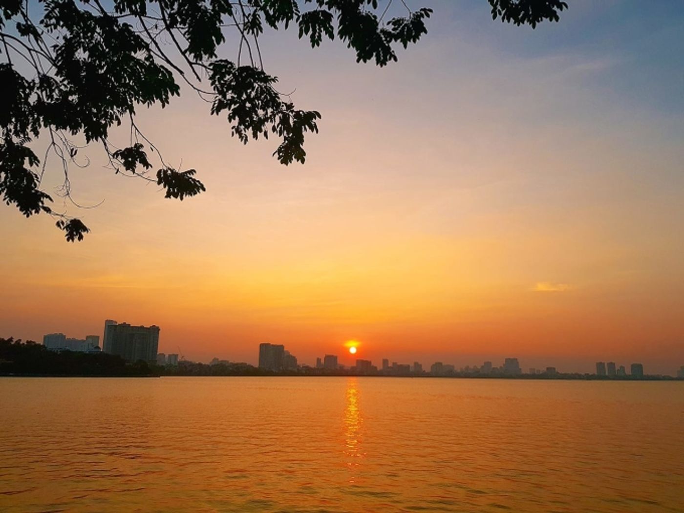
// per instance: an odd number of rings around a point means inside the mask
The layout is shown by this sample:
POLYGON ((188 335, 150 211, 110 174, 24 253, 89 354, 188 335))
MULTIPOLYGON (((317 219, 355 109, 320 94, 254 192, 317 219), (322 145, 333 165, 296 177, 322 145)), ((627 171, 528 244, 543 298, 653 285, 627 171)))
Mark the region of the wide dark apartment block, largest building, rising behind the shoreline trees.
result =
POLYGON ((103 345, 106 347, 105 352, 118 354, 124 360, 157 363, 159 326, 131 326, 107 319, 103 345))

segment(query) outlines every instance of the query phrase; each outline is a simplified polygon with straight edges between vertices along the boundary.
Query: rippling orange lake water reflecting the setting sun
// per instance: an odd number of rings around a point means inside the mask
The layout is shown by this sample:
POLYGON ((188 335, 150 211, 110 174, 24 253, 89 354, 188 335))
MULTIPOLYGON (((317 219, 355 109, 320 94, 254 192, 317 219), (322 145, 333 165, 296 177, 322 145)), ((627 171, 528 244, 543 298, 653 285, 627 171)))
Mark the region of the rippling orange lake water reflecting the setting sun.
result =
POLYGON ((684 382, 0 378, 0 510, 682 512, 684 382))

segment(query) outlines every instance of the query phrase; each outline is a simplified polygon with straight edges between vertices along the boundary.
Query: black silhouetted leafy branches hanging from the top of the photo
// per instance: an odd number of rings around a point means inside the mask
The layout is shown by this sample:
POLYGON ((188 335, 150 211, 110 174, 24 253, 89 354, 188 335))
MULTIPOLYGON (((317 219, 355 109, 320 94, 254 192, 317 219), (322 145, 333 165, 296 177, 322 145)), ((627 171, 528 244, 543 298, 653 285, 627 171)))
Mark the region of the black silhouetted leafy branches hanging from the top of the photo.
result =
MULTIPOLYGON (((536 27, 558 21, 559 0, 488 0, 493 18, 536 27)), ((70 199, 68 168, 87 166, 70 137, 101 144, 108 168, 157 183, 166 198, 183 199, 205 190, 195 170, 176 170, 135 124, 138 105, 166 107, 187 83, 225 114, 241 142, 280 139, 274 155, 282 164, 304 163, 304 135, 317 132, 319 112, 295 108, 276 90, 278 79, 263 70, 259 36, 265 28, 298 27, 300 38, 318 47, 336 36, 357 62, 385 66, 427 34, 432 10, 410 10, 385 20, 393 0, 42 0, 0 1, 0 194, 27 217, 49 213, 68 241, 88 228, 49 207, 40 190, 49 157, 64 172, 58 194, 70 199), (226 34, 237 31, 235 62, 219 58, 226 34), (163 43, 166 41, 166 43, 163 43), (207 85, 208 84, 208 85, 207 85), (130 124, 122 147, 109 140, 112 127, 130 124), (44 136, 42 162, 29 148, 44 136), (148 153, 160 162, 156 178, 148 153), (81 160, 77 160, 81 159, 81 160)))

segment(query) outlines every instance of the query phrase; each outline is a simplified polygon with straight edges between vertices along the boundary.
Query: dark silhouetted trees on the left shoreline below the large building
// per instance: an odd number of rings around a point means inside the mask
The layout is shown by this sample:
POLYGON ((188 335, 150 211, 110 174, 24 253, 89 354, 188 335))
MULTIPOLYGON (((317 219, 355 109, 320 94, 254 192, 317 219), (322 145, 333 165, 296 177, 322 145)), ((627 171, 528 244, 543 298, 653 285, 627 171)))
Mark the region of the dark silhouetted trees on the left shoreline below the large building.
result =
POLYGON ((53 352, 32 341, 0 338, 0 376, 155 376, 147 362, 114 354, 53 352))

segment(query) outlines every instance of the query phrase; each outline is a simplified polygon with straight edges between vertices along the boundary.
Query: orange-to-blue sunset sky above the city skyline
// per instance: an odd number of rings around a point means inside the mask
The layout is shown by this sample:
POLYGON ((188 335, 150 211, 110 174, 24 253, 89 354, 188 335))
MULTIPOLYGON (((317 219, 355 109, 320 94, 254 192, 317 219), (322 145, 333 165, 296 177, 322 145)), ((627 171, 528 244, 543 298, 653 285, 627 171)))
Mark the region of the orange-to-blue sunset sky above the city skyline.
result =
MULTIPOLYGON (((192 94, 138 124, 207 192, 183 202, 73 169, 92 229, 0 208, 0 337, 161 327, 159 351, 257 363, 340 354, 524 369, 684 365, 684 11, 568 1, 514 27, 484 0, 413 0, 428 35, 385 68, 295 31, 261 41, 279 90, 323 118, 301 166, 243 146, 192 94)), ((228 45, 222 57, 235 58, 228 45)), ((116 134, 115 134, 116 135, 116 134)))

